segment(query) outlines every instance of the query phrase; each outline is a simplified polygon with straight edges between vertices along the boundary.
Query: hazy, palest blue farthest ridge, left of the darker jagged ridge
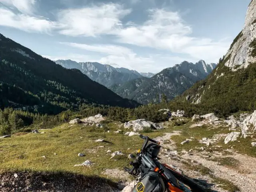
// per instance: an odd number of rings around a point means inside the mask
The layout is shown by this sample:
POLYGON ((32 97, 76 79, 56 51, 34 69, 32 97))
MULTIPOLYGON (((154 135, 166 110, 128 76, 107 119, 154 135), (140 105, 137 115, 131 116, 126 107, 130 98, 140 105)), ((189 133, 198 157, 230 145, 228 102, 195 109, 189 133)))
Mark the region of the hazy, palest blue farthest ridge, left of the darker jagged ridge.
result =
POLYGON ((103 65, 98 62, 75 62, 72 60, 57 60, 65 68, 76 68, 86 74, 90 79, 110 88, 115 84, 122 84, 130 80, 141 78, 142 75, 126 68, 114 68, 110 65, 103 65))

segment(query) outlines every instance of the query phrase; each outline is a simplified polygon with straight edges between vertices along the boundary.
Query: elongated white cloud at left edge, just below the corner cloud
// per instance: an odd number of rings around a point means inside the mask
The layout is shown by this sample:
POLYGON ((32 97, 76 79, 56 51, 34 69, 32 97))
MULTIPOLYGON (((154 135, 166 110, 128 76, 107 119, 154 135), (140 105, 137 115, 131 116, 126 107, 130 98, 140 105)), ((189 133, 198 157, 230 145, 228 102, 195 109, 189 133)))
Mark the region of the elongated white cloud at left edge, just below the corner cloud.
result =
POLYGON ((45 18, 36 18, 20 13, 15 14, 9 9, 0 8, 0 25, 18 28, 27 32, 49 33, 54 23, 45 18))

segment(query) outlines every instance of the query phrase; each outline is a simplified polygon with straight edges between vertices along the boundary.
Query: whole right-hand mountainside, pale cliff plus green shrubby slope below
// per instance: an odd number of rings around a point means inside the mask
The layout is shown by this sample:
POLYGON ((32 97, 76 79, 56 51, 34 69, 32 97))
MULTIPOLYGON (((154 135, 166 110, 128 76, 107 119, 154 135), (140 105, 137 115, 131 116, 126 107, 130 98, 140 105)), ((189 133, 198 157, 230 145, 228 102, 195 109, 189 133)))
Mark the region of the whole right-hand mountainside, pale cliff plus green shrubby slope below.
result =
POLYGON ((203 112, 226 114, 256 110, 256 0, 250 3, 244 28, 220 64, 177 100, 194 104, 203 112))

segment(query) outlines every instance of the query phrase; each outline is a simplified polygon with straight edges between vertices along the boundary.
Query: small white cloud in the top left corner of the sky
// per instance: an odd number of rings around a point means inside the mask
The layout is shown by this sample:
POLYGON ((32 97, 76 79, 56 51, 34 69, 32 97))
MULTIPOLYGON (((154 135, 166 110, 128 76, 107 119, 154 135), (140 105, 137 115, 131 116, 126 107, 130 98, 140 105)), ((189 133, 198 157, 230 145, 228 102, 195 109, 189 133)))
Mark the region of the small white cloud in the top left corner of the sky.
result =
POLYGON ((6 6, 13 6, 20 12, 30 13, 33 10, 33 5, 36 3, 36 0, 0 0, 0 3, 6 6))

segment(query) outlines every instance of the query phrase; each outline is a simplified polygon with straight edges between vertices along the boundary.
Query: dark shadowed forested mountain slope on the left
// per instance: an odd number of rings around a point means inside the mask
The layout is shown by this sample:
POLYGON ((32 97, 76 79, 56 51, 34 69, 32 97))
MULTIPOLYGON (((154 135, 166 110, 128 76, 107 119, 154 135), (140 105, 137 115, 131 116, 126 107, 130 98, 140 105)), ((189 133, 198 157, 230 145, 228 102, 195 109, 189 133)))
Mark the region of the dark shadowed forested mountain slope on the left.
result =
POLYGON ((2 34, 0 74, 0 108, 11 106, 56 114, 82 104, 138 106, 137 102, 123 99, 80 70, 57 65, 2 34))

